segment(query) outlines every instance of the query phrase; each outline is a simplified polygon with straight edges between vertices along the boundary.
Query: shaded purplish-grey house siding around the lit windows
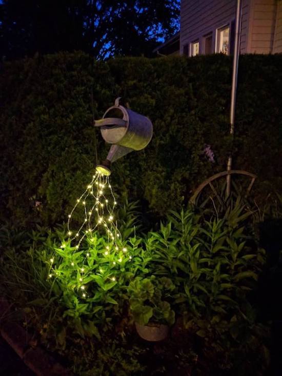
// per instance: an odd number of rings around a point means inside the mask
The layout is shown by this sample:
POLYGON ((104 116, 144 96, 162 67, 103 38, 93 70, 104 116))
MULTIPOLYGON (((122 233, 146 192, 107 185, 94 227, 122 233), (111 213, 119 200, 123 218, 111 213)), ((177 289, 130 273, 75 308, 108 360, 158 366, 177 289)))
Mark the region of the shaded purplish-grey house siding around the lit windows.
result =
MULTIPOLYGON (((275 0, 274 0, 275 1, 275 0)), ((241 52, 247 52, 250 0, 243 0, 241 25, 241 52)), ((216 29, 230 24, 235 18, 236 0, 182 0, 180 13, 180 54, 183 46, 198 40, 204 52, 203 36, 213 33, 212 49, 215 51, 216 29)))

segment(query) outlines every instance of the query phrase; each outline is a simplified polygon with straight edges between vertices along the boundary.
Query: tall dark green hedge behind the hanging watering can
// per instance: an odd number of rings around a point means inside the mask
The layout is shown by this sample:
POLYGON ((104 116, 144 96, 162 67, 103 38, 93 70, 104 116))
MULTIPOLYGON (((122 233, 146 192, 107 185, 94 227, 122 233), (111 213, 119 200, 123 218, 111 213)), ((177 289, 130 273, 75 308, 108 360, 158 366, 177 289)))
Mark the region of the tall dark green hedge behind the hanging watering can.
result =
MULTIPOLYGON (((154 133, 145 150, 113 164, 116 192, 158 216, 185 205, 199 183, 226 169, 231 67, 220 54, 96 62, 76 52, 5 63, 1 219, 27 226, 66 218, 96 163, 92 113, 100 118, 117 96, 149 116, 154 133)), ((264 194, 282 187, 281 67, 282 55, 240 56, 233 167, 256 173, 264 194)), ((96 132, 102 160, 109 146, 96 132)))

